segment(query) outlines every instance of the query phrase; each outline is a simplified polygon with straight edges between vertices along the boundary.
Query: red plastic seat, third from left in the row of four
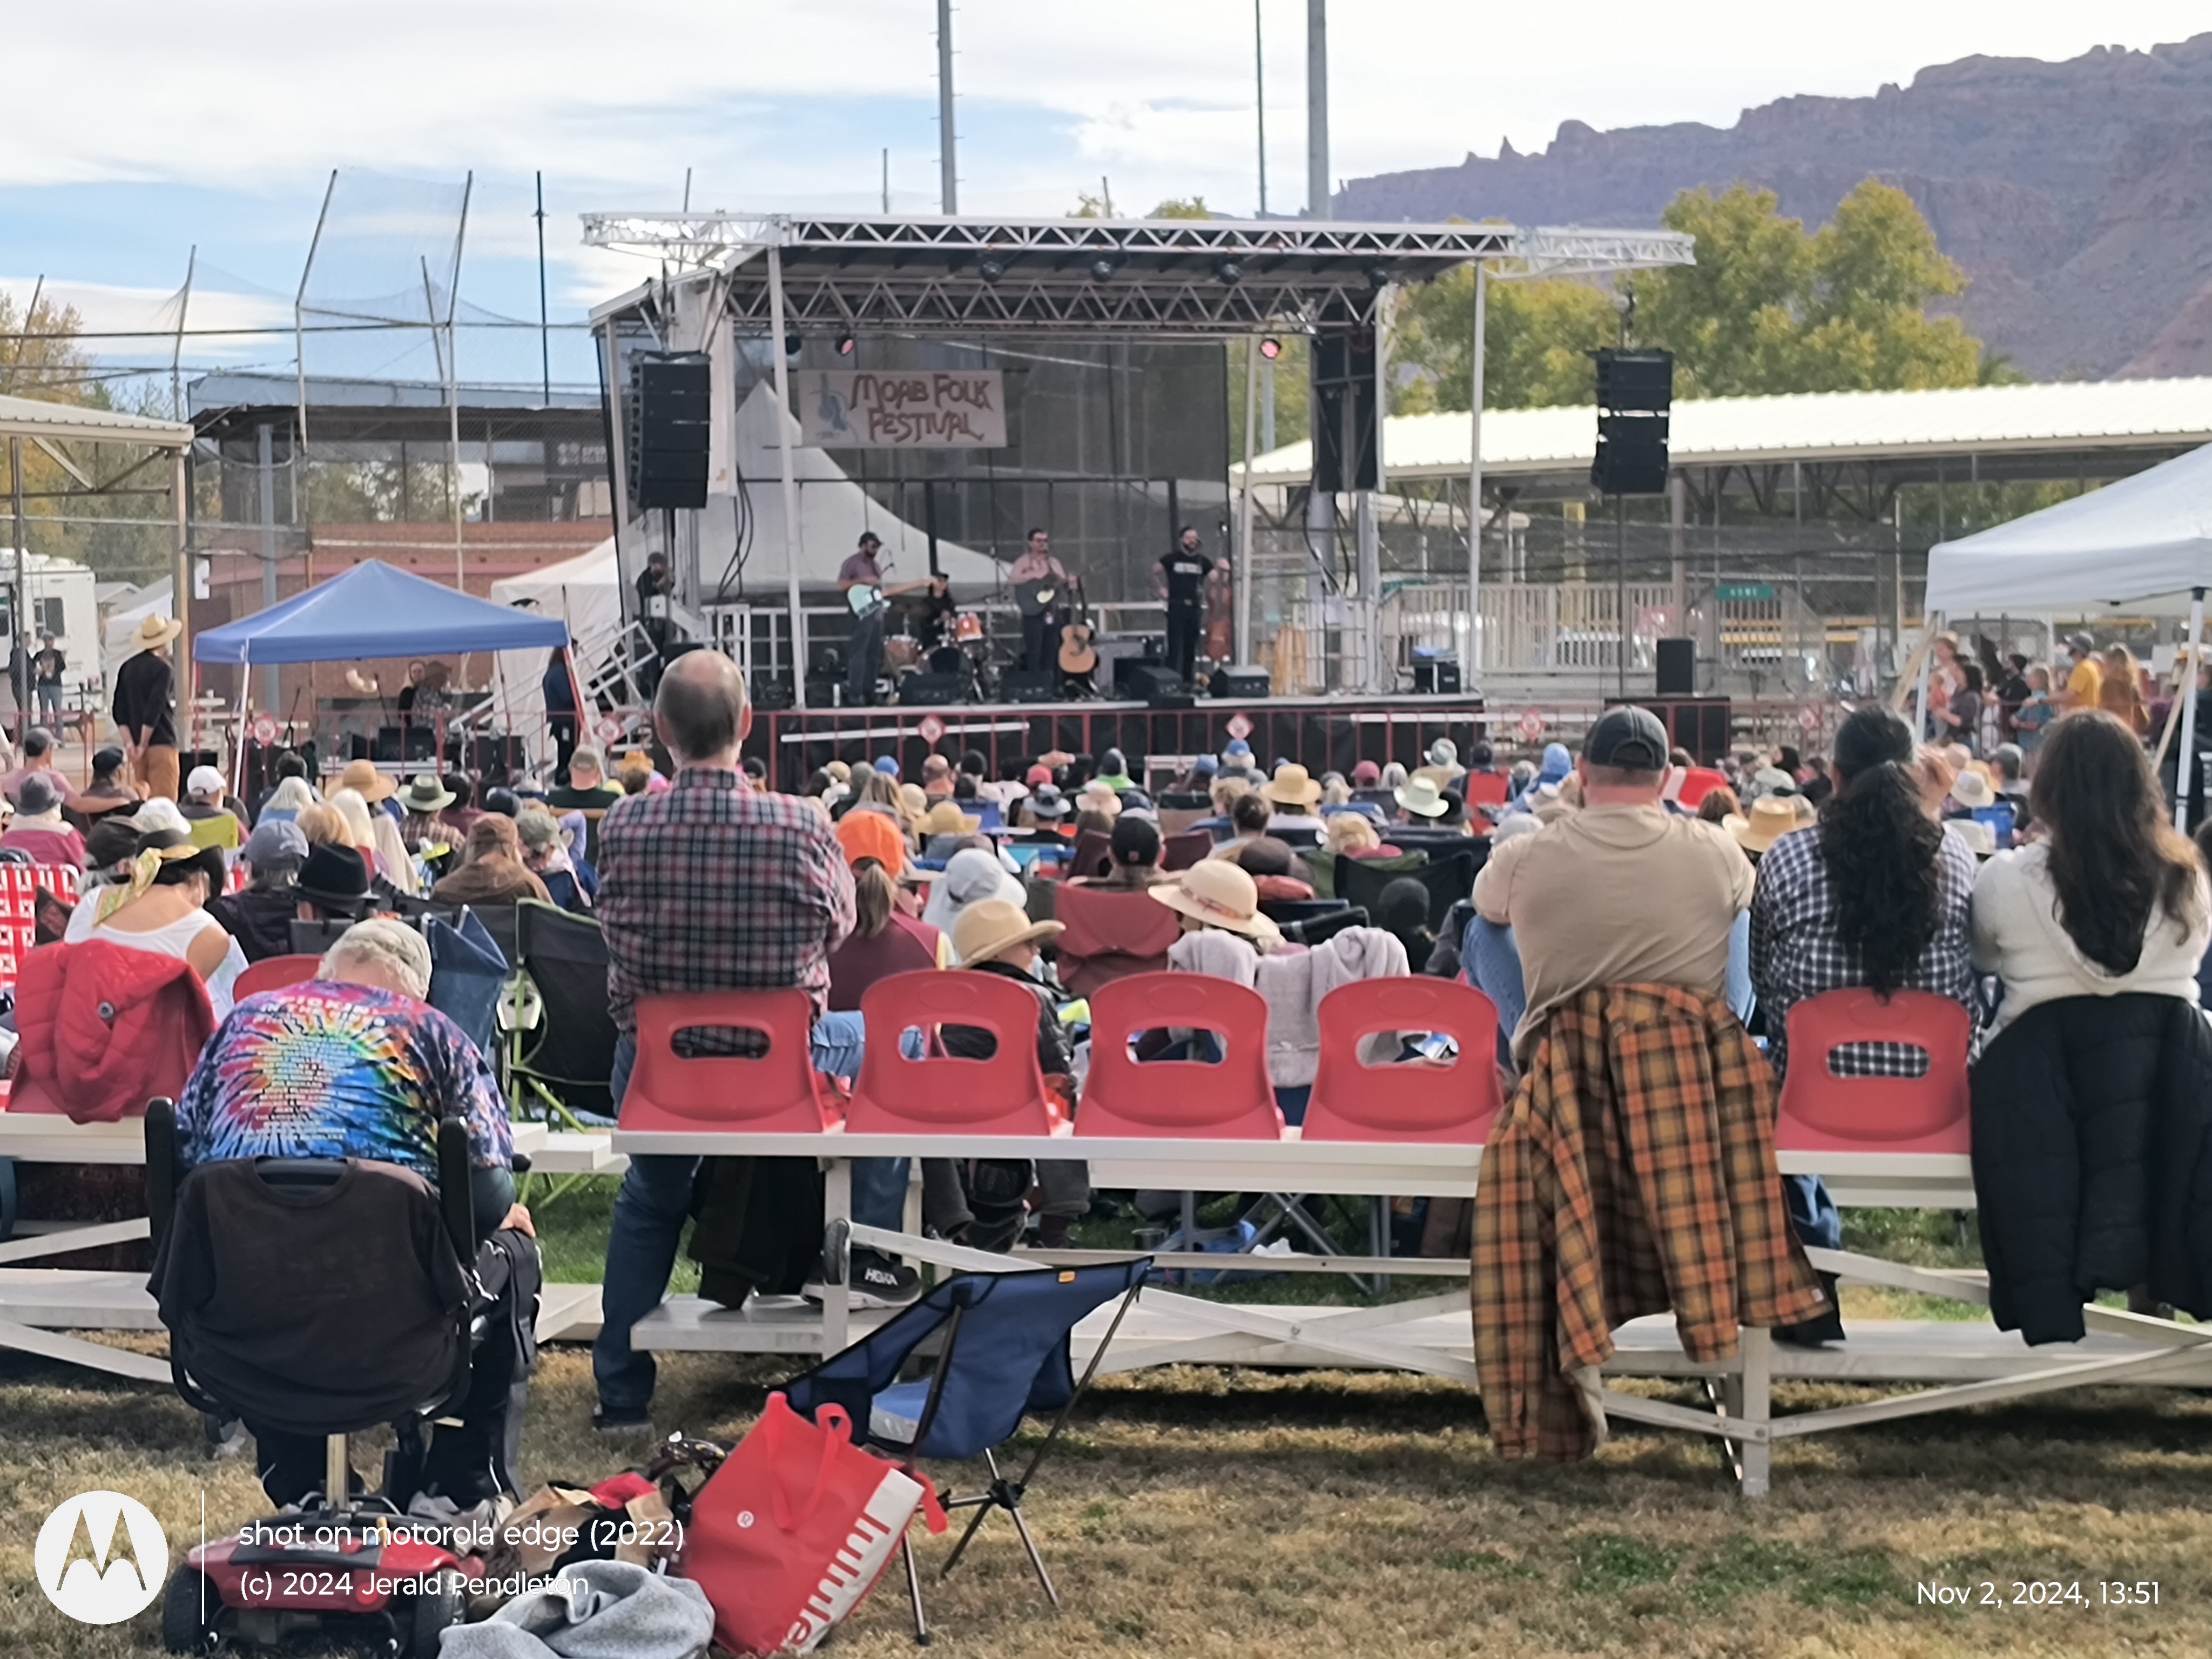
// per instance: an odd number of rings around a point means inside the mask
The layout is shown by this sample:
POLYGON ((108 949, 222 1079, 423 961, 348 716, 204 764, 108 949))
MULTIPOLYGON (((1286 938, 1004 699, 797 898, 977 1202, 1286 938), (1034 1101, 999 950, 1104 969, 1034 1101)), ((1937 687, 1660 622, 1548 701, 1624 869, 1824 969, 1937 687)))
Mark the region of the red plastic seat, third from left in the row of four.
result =
POLYGON ((1267 1002, 1206 973, 1139 973, 1091 998, 1091 1077, 1075 1113, 1077 1139, 1190 1137, 1274 1141, 1283 1113, 1267 1082, 1267 1002), (1139 1031, 1188 1026, 1221 1037, 1219 1066, 1199 1060, 1139 1064, 1139 1031))

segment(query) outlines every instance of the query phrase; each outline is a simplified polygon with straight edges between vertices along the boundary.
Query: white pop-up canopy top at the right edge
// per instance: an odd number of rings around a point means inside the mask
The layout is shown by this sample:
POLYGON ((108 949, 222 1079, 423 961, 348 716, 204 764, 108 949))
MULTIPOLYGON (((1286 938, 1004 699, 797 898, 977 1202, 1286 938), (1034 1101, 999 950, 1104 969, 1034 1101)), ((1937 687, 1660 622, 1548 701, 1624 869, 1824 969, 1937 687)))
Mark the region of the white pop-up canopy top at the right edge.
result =
POLYGON ((2179 613, 2212 586, 2212 445, 2090 495, 1929 549, 1929 611, 2124 604, 2179 613))

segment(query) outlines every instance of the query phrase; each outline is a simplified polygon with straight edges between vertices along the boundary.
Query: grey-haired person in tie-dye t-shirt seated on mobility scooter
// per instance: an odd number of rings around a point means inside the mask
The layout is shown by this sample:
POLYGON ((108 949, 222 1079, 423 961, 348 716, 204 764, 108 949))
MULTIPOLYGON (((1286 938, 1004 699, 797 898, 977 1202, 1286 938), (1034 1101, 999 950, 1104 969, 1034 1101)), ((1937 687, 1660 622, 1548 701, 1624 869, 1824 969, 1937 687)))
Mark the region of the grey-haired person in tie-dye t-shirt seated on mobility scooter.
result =
MULTIPOLYGON (((469 1128, 476 1272, 491 1310, 471 1356, 458 1427, 440 1425, 425 1489, 467 1509, 513 1486, 522 1402, 533 1363, 538 1245, 515 1203, 513 1126, 491 1064, 431 1009, 429 945, 392 920, 356 922, 314 980, 250 995, 232 1009, 177 1099, 179 1175, 221 1159, 374 1159, 438 1179, 438 1121, 469 1128)), ((365 1252, 367 1254, 367 1252, 365 1252)), ((217 1296, 252 1314, 254 1285, 217 1296)), ((383 1316, 378 1287, 358 1285, 361 1316, 383 1316)), ((288 1336, 261 1340, 276 1354, 288 1336)), ((323 1484, 323 1442, 257 1427, 254 1460, 276 1504, 323 1484)))

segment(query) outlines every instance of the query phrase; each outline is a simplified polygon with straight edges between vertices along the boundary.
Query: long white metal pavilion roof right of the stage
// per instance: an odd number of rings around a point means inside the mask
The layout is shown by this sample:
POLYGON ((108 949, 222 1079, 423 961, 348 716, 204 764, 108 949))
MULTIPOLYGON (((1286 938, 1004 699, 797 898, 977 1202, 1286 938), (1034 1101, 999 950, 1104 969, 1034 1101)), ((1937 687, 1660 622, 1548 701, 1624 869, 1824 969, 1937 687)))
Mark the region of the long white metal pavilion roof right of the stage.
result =
MULTIPOLYGON (((1588 405, 1486 409, 1482 473, 1588 469, 1595 434, 1597 409, 1588 405)), ((2201 442, 2212 442, 2212 378, 1677 400, 1668 453, 1677 467, 1761 467, 2201 442)), ((1467 414, 1391 416, 1383 453, 1391 478, 1464 478, 1467 414)), ((1310 445, 1285 445, 1254 456, 1252 480, 1301 484, 1312 465, 1310 445)))

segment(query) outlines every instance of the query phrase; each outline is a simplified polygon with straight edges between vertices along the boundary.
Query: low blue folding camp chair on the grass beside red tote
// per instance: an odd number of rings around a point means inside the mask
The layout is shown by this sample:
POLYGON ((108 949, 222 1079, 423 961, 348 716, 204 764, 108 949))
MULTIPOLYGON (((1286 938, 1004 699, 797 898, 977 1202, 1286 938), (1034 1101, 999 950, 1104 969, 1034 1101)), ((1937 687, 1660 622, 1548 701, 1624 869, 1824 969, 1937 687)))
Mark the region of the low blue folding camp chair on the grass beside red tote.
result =
MULTIPOLYGON (((1053 1588, 1037 1542, 1022 1520, 1022 1493, 1029 1491, 1068 1413, 1097 1376, 1106 1347, 1121 1329, 1150 1272, 1150 1256, 1130 1256, 1095 1267, 953 1274, 843 1354, 787 1383, 783 1394, 792 1409, 805 1416, 814 1416, 823 1405, 845 1407, 854 1440, 900 1460, 982 1458, 991 1471, 989 1489, 973 1498, 945 1500, 947 1509, 973 1509, 975 1517, 960 1533, 938 1577, 960 1564, 984 1517, 993 1509, 1004 1509, 1022 1535, 1037 1584, 1057 1608, 1060 1590, 1053 1588), (1077 1383, 1068 1338, 1086 1314, 1115 1296, 1121 1305, 1077 1383), (1033 1411, 1057 1416, 1022 1478, 1006 1480, 998 1467, 998 1449, 1033 1411)), ((905 1544, 905 1559, 914 1637, 929 1641, 911 1540, 905 1544)))

